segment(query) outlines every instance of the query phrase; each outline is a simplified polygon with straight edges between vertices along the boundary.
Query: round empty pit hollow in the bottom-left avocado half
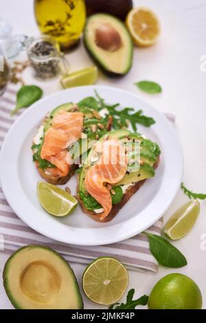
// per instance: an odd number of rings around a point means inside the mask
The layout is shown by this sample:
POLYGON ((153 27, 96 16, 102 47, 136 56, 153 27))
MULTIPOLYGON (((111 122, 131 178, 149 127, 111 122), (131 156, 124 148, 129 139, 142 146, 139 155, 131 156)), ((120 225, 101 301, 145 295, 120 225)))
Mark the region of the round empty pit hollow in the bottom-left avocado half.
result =
POLYGON ((31 300, 50 303, 58 296, 61 280, 53 267, 43 261, 36 261, 25 267, 20 285, 21 291, 31 300))

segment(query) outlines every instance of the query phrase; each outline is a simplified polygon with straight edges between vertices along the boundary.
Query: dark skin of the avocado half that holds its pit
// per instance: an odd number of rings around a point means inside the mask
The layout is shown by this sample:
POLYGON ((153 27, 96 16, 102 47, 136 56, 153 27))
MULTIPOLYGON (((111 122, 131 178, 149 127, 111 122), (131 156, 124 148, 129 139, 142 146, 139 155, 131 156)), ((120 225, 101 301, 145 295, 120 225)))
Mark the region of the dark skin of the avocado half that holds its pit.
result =
MULTIPOLYGON (((102 14, 100 14, 102 16, 102 14)), ((110 14, 104 14, 105 16, 111 16, 110 14)), ((93 16, 98 16, 98 14, 93 14, 91 17, 93 16)), ((98 60, 98 58, 95 56, 95 53, 93 53, 90 49, 89 49, 89 43, 87 41, 87 25, 89 23, 89 19, 90 17, 87 19, 87 24, 84 28, 84 35, 83 35, 83 43, 84 43, 84 47, 86 48, 89 56, 92 58, 92 60, 94 61, 94 63, 101 69, 101 71, 106 74, 106 76, 109 77, 113 77, 113 78, 121 78, 123 76, 125 76, 126 74, 128 74, 128 72, 130 71, 132 65, 133 65, 133 41, 132 38, 128 32, 128 37, 130 38, 130 57, 129 57, 129 63, 128 63, 128 67, 127 69, 124 71, 124 73, 116 73, 114 71, 111 71, 109 69, 106 69, 106 67, 104 67, 101 63, 100 60, 98 60)), ((119 21, 119 19, 115 18, 115 16, 111 16, 111 19, 116 19, 119 21)), ((122 21, 119 21, 120 23, 122 23, 122 21)), ((126 28, 126 26, 124 25, 124 23, 122 23, 122 25, 124 26, 124 28, 126 28)))

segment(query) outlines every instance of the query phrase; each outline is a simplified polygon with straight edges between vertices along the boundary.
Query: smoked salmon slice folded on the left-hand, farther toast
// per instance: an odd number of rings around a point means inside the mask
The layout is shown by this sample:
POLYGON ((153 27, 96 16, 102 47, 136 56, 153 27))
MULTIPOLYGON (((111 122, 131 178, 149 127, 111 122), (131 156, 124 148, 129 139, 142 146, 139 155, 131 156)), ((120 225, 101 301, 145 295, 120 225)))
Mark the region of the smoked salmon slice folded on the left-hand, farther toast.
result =
POLYGON ((67 148, 80 139, 83 113, 60 111, 47 130, 41 148, 41 158, 56 166, 47 171, 53 176, 66 176, 71 168, 67 163, 67 148))

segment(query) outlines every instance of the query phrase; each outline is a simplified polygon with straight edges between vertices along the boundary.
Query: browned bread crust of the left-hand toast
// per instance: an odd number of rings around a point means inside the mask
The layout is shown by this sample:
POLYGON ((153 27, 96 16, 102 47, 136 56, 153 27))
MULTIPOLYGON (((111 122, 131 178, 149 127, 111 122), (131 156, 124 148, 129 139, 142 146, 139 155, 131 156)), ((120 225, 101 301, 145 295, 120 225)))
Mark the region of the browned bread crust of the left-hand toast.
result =
MULTIPOLYGON (((47 117, 45 117, 45 119, 43 120, 43 123, 45 123, 47 120, 47 117)), ((108 118, 108 123, 106 124, 106 129, 108 131, 111 130, 111 125, 112 125, 112 117, 110 116, 108 118)), ((71 166, 71 170, 69 171, 69 173, 64 176, 64 177, 56 177, 56 176, 52 176, 47 174, 47 169, 43 170, 42 168, 38 167, 38 163, 35 163, 36 168, 38 170, 39 175, 41 175, 41 177, 43 177, 43 179, 45 179, 48 183, 54 184, 54 185, 64 185, 65 183, 67 183, 67 181, 69 181, 69 179, 73 176, 75 170, 78 168, 78 165, 73 164, 71 166)))

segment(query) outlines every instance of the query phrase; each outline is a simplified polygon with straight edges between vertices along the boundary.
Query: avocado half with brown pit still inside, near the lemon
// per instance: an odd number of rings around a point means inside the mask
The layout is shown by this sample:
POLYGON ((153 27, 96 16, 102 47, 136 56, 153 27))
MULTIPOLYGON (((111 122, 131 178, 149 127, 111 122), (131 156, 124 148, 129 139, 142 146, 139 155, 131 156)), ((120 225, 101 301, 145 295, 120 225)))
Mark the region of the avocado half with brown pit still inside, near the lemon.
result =
POLYGON ((110 14, 93 14, 84 29, 84 45, 102 71, 124 76, 133 63, 133 42, 124 23, 110 14))

